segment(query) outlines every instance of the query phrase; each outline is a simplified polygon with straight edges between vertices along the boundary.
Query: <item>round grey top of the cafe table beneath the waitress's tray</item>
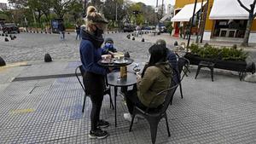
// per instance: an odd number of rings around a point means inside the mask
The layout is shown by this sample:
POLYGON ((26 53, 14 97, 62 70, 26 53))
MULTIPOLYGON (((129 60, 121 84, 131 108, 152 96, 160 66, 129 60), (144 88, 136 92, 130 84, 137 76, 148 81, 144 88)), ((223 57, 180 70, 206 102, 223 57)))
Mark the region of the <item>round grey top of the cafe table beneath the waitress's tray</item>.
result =
POLYGON ((111 86, 131 86, 137 84, 137 75, 133 72, 127 72, 127 78, 120 78, 120 72, 111 72, 107 75, 108 84, 111 86))

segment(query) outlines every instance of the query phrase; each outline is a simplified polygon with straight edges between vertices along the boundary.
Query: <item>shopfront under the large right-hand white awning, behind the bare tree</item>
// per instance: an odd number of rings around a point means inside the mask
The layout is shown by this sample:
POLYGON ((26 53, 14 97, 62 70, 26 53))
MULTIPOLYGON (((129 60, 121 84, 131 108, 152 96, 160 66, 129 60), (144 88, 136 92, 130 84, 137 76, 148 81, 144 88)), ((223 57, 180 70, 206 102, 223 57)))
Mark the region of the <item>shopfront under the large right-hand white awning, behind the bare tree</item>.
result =
MULTIPOLYGON (((241 2, 249 8, 249 5, 253 3, 253 0, 241 2)), ((211 38, 225 37, 239 40, 244 37, 246 32, 248 12, 241 8, 239 3, 234 2, 233 0, 214 0, 209 20, 213 20, 211 38)), ((253 25, 250 34, 250 43, 256 43, 255 30, 256 26, 253 25)))

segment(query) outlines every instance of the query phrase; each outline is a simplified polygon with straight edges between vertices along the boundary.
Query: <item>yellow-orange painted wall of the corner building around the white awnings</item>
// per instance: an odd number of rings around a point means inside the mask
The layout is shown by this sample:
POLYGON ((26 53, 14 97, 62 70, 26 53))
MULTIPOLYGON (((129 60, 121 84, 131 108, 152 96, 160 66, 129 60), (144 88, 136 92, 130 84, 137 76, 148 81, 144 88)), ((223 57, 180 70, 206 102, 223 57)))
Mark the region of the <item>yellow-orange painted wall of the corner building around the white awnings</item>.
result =
MULTIPOLYGON (((207 1, 207 0, 204 0, 207 1)), ((181 9, 187 4, 195 3, 195 0, 176 0, 175 9, 181 9)), ((197 3, 201 3, 201 0, 197 0, 197 3)), ((207 22, 206 22, 206 31, 212 31, 213 20, 209 20, 209 15, 211 12, 213 0, 209 0, 208 12, 207 12, 207 22)), ((253 20, 252 31, 256 31, 256 20, 253 20)))

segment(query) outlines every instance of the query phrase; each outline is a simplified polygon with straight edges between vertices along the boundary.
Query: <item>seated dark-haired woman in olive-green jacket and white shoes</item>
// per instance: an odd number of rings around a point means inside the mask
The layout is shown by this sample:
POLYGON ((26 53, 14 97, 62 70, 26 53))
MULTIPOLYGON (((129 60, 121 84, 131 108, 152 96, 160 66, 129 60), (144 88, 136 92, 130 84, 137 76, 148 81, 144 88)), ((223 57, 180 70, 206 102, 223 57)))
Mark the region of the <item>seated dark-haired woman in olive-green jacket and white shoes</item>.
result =
MULTIPOLYGON (((142 76, 137 76, 137 87, 129 90, 126 95, 126 104, 129 113, 124 114, 125 120, 131 121, 133 107, 140 108, 157 108, 160 107, 165 97, 158 95, 162 90, 167 89, 171 85, 172 66, 166 60, 167 50, 163 45, 154 44, 148 49, 150 59, 148 65, 143 69, 142 76), (149 103, 155 100, 150 106, 149 103)), ((135 119, 135 122, 137 119, 135 119)))

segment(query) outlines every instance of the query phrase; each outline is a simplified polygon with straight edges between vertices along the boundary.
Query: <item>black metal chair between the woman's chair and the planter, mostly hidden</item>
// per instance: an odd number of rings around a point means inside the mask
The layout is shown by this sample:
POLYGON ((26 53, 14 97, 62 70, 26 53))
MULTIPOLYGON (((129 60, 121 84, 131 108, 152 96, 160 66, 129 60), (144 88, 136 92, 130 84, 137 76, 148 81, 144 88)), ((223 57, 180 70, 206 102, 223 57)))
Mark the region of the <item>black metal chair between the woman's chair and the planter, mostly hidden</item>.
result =
MULTIPOLYGON (((189 60, 184 57, 179 57, 177 60, 177 70, 179 72, 179 90, 181 98, 183 99, 183 88, 182 88, 182 80, 184 76, 188 76, 187 72, 189 72, 189 60), (183 75, 182 75, 183 72, 183 75)), ((171 101, 172 104, 172 101, 171 101)))

